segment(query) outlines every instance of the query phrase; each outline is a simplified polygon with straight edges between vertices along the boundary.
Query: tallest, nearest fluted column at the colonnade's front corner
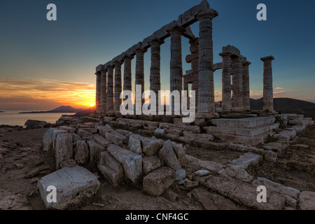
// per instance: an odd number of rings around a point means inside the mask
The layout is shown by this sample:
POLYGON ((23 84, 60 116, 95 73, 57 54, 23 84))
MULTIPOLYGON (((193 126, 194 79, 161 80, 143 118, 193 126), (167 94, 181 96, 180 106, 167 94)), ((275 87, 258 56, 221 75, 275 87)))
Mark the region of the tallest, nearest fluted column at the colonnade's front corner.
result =
POLYGON ((198 112, 215 111, 214 106, 214 52, 212 42, 212 19, 218 13, 212 8, 197 15, 200 22, 199 31, 199 90, 198 112))

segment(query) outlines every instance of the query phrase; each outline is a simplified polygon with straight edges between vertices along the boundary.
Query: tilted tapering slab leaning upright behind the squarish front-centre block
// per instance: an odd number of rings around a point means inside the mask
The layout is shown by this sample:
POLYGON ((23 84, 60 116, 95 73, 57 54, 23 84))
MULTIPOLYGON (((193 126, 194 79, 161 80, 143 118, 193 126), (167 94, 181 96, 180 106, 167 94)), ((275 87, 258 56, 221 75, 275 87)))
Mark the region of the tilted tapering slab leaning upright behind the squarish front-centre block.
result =
POLYGON ((174 153, 171 141, 165 141, 165 144, 158 152, 158 155, 167 166, 171 167, 174 170, 181 169, 181 164, 177 159, 176 154, 174 153))

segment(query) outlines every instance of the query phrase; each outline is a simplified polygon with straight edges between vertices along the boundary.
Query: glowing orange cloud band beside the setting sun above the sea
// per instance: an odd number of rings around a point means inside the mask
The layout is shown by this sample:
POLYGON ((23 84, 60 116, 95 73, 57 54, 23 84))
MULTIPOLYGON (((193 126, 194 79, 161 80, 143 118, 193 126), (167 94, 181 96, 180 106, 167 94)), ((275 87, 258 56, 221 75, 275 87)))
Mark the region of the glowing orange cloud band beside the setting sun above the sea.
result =
POLYGON ((87 107, 94 104, 95 86, 58 80, 0 78, 0 99, 0 107, 27 103, 38 107, 43 102, 87 107))

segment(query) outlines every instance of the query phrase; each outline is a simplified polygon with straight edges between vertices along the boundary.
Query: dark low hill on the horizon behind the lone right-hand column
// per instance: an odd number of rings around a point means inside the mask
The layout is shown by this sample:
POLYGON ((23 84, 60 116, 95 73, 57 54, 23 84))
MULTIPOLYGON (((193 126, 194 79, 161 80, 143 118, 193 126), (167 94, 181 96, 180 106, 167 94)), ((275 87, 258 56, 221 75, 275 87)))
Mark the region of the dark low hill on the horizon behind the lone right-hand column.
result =
MULTIPOLYGON (((262 110, 262 98, 251 99, 251 110, 262 110)), ((279 113, 304 114, 305 118, 315 119, 315 104, 299 99, 274 98, 274 110, 279 113)))

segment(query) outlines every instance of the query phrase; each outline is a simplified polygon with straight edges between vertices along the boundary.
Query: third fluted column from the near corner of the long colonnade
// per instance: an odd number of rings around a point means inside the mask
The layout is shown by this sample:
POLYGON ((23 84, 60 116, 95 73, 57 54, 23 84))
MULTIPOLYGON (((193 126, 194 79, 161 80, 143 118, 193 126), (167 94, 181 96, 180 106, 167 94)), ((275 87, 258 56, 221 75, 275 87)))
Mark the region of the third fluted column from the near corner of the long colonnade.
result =
POLYGON ((150 69, 150 90, 153 90, 156 95, 156 110, 158 111, 159 102, 159 90, 161 90, 161 75, 160 75, 160 62, 161 62, 161 44, 164 41, 155 38, 149 44, 151 45, 151 69, 150 69))

